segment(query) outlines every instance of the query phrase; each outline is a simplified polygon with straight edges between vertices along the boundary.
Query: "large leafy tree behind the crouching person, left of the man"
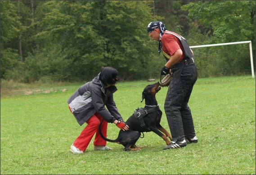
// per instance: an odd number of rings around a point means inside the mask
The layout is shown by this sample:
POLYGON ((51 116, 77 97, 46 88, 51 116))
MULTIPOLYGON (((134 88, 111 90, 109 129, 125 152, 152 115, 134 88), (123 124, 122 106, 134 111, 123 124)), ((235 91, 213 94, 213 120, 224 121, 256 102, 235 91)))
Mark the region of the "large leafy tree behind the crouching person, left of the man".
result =
POLYGON ((51 12, 38 22, 43 30, 35 37, 50 39, 49 70, 61 80, 91 79, 102 66, 117 68, 121 76, 145 75, 152 52, 145 44, 150 21, 147 1, 49 1, 45 5, 51 12))

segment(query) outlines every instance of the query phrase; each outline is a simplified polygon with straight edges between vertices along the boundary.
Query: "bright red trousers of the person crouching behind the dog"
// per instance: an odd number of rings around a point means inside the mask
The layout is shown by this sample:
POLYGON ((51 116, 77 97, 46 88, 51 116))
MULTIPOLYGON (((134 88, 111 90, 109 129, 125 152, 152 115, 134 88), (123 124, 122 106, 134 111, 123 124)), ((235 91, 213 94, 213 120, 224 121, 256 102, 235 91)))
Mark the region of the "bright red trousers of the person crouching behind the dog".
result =
MULTIPOLYGON (((81 134, 76 138, 73 145, 76 146, 76 148, 80 149, 81 151, 85 151, 92 137, 94 136, 94 133, 96 132, 93 145, 105 146, 107 141, 105 141, 99 135, 99 123, 101 122, 101 120, 103 120, 102 117, 96 112, 89 120, 86 121, 87 126, 84 128, 81 134)), ((103 136, 107 137, 108 122, 104 120, 100 128, 103 136)))

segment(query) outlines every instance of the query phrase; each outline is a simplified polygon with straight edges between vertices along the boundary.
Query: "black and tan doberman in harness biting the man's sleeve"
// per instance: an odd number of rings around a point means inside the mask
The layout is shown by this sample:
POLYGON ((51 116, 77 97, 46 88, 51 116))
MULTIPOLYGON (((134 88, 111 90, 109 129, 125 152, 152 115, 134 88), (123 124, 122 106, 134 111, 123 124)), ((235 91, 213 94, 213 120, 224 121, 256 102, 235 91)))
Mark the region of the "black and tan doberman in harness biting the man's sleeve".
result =
MULTIPOLYGON (((133 115, 131 115, 126 124, 129 126, 128 131, 120 130, 116 140, 111 140, 104 137, 100 131, 100 126, 103 122, 101 121, 99 125, 99 134, 105 141, 114 142, 122 144, 125 146, 124 150, 140 150, 140 148, 135 145, 136 141, 139 139, 141 132, 155 132, 158 136, 162 137, 166 141, 166 145, 170 145, 171 141, 167 138, 172 139, 171 134, 161 126, 160 121, 162 117, 162 111, 160 110, 156 94, 161 87, 160 83, 147 85, 142 92, 142 101, 145 99, 145 107, 138 108, 133 115), (145 112, 145 113, 144 113, 145 112), (162 131, 162 132, 160 132, 162 131)), ((141 102, 142 102, 141 101, 141 102)))

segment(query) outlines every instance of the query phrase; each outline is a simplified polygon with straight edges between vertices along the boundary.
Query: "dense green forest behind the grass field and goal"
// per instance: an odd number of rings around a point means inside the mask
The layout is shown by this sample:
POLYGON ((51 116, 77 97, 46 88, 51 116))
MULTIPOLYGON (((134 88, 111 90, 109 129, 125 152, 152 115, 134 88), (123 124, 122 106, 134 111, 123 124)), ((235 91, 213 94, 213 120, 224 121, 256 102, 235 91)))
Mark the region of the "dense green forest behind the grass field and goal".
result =
MULTIPOLYGON (((255 58, 254 0, 1 0, 0 7, 1 81, 91 81, 102 66, 117 68, 123 81, 158 78, 166 60, 148 36, 151 21, 190 46, 252 41, 255 58)), ((193 51, 199 77, 251 73, 248 44, 193 51)))

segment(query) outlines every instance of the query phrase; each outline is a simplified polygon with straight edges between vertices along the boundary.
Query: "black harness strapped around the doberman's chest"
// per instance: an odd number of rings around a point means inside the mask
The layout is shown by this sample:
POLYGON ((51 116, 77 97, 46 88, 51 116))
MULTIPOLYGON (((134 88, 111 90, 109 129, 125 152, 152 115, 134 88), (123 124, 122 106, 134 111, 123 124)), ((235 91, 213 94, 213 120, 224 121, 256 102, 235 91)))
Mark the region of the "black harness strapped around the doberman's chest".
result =
POLYGON ((144 123, 143 117, 146 116, 148 113, 158 110, 160 110, 159 106, 151 107, 148 110, 146 108, 139 107, 135 109, 133 115, 135 116, 135 118, 139 119, 141 128, 148 129, 146 124, 144 123))

